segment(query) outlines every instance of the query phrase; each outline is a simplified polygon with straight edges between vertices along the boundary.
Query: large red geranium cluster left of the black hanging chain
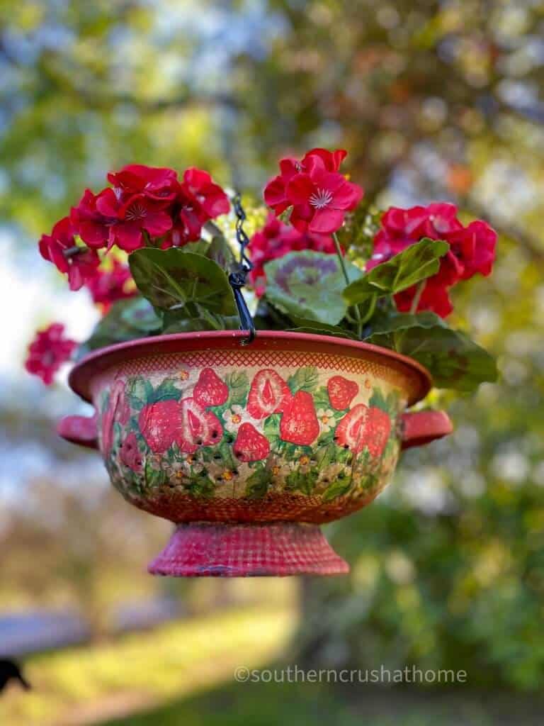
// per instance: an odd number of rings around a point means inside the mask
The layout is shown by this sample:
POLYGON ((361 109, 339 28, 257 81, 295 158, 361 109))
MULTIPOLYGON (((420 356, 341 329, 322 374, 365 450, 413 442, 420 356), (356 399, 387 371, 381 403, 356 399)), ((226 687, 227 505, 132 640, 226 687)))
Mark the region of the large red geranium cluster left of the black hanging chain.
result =
POLYGON ((185 245, 199 239, 207 221, 230 208, 223 189, 197 168, 187 169, 180 181, 173 169, 129 164, 107 179, 112 187, 98 194, 86 189, 70 216, 39 242, 41 256, 68 274, 70 290, 95 277, 97 250, 117 245, 130 253, 149 244, 185 245))

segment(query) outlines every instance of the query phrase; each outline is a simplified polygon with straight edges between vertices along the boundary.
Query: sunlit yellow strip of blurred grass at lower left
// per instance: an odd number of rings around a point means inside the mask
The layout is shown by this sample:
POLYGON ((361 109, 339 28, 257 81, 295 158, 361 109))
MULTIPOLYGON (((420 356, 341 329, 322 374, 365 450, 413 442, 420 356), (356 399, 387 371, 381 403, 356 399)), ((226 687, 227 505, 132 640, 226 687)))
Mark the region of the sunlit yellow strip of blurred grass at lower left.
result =
POLYGON ((149 708, 276 658, 295 624, 294 607, 261 605, 34 656, 25 663, 33 690, 4 693, 0 724, 91 723, 149 708))

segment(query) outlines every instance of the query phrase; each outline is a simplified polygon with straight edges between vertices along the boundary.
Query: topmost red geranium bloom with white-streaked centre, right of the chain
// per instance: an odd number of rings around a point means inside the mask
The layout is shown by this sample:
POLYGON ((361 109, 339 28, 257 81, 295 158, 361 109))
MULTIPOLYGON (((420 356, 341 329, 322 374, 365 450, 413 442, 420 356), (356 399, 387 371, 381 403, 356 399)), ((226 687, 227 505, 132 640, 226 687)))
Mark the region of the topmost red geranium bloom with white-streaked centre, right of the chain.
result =
POLYGON ((290 208, 289 221, 300 232, 337 232, 363 197, 363 189, 339 173, 346 155, 342 149, 312 149, 301 160, 281 159, 280 174, 265 187, 265 202, 276 215, 290 208))

